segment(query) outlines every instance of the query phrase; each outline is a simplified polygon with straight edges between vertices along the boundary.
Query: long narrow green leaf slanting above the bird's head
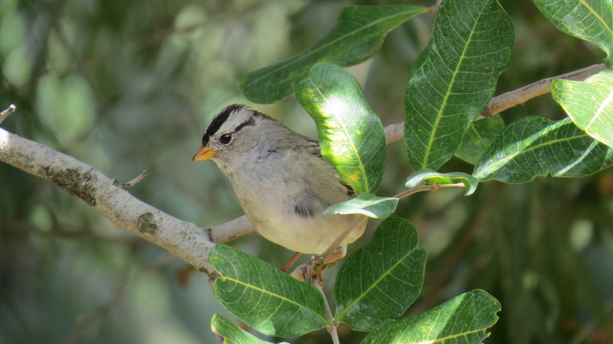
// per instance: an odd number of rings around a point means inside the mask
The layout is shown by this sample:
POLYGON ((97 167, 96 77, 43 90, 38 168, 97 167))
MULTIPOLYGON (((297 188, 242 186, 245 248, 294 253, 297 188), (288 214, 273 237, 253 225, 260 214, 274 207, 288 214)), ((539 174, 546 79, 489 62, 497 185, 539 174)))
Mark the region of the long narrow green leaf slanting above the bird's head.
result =
POLYGON ((253 70, 238 79, 238 88, 252 102, 274 103, 287 97, 317 62, 354 65, 375 54, 396 26, 427 12, 412 5, 349 6, 330 33, 300 54, 253 70))

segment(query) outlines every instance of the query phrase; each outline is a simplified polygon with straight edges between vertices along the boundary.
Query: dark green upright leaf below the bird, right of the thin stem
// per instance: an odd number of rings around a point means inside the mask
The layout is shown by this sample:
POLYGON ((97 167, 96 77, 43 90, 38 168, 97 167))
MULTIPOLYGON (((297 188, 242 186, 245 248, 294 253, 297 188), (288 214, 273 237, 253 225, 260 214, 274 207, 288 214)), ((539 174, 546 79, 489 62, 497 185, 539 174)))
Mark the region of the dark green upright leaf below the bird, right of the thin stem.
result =
POLYGON ((346 258, 338 271, 335 321, 371 331, 401 316, 421 292, 425 257, 411 222, 384 220, 370 242, 346 258))

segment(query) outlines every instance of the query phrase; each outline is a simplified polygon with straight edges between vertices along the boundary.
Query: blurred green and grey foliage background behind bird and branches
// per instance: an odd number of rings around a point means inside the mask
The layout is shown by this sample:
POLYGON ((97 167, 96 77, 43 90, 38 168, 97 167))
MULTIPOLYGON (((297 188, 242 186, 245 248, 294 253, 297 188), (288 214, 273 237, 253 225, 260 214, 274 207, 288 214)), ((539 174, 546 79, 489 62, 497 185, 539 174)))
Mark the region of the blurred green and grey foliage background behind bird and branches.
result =
MULTIPOLYGON (((17 105, 2 127, 120 182, 147 170, 129 189, 137 198, 201 226, 223 223, 242 209, 215 164, 191 157, 218 110, 254 105, 237 91, 237 78, 310 47, 345 6, 391 3, 0 0, 0 108, 17 105)), ((501 4, 516 47, 497 94, 603 59, 557 31, 531 1, 501 4)), ((349 68, 384 125, 403 120, 410 66, 432 27, 432 15, 414 18, 390 32, 373 59, 349 68)), ((316 136, 293 96, 254 107, 316 136)), ((543 95, 503 119, 528 115, 564 117, 543 95)), ((413 172, 402 143, 390 144, 388 154, 381 196, 402 190, 413 172)), ((441 170, 472 168, 454 158, 441 170)), ((401 201, 395 215, 414 223, 428 253, 423 293, 408 314, 481 288, 502 304, 486 343, 612 343, 612 209, 611 169, 579 179, 485 182, 470 197, 443 189, 401 201)), ((275 266, 291 256, 254 233, 232 245, 275 266)), ((56 185, 0 163, 0 343, 215 343, 215 312, 229 316, 207 276, 113 228, 56 185)), ((365 335, 339 331, 343 343, 365 335)), ((322 330, 289 341, 330 337, 322 330)))

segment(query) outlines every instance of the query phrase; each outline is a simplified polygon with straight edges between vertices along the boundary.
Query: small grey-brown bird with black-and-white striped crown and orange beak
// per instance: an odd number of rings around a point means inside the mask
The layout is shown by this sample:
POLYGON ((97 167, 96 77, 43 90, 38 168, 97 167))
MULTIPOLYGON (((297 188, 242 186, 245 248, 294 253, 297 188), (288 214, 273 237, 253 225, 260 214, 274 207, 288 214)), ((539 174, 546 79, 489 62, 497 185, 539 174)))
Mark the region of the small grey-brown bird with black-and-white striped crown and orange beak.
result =
MULTIPOLYGON (((287 249, 321 254, 358 219, 322 215, 355 193, 321 157, 318 141, 246 105, 229 105, 211 119, 192 161, 209 159, 226 174, 255 231, 287 249)), ((345 256, 365 226, 356 226, 334 258, 345 256)))

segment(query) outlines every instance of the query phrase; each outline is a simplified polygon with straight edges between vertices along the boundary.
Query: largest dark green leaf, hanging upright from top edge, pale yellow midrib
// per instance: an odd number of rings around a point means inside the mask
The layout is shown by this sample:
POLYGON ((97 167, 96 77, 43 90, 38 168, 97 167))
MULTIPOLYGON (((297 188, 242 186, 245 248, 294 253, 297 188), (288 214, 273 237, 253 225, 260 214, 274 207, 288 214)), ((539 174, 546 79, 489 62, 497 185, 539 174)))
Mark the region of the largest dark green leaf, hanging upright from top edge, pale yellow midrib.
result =
POLYGON ((405 150, 414 170, 457 151, 511 61, 511 20, 495 0, 445 0, 430 51, 406 89, 405 150))

